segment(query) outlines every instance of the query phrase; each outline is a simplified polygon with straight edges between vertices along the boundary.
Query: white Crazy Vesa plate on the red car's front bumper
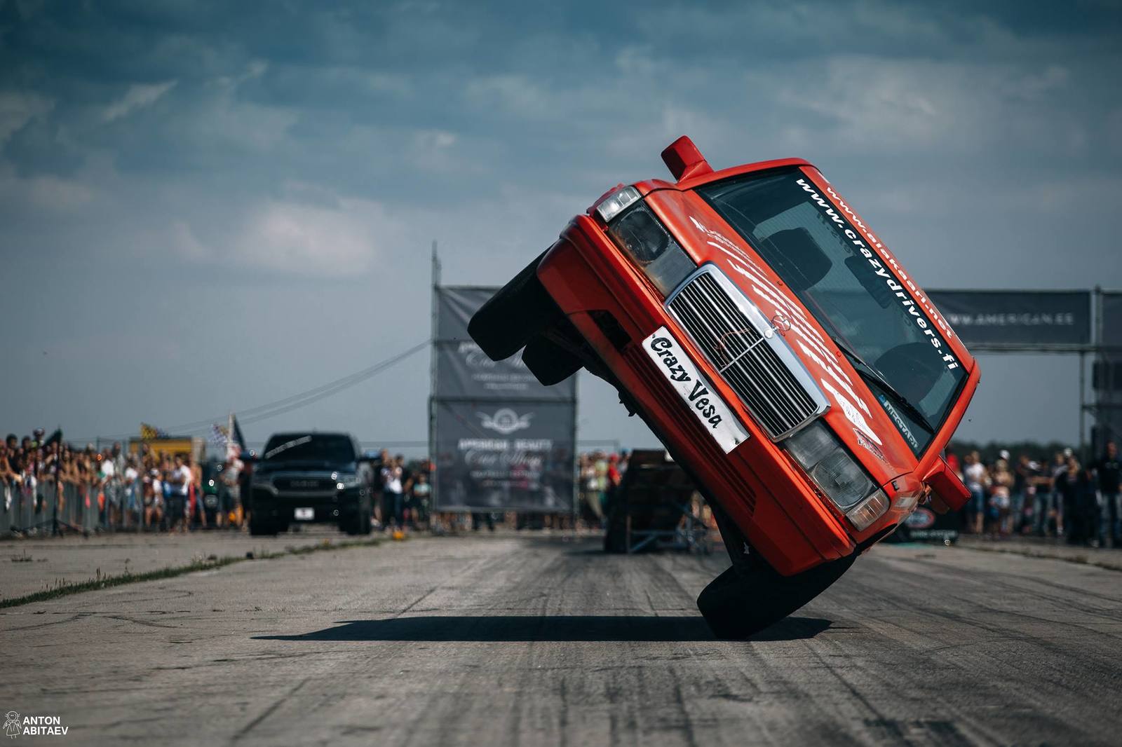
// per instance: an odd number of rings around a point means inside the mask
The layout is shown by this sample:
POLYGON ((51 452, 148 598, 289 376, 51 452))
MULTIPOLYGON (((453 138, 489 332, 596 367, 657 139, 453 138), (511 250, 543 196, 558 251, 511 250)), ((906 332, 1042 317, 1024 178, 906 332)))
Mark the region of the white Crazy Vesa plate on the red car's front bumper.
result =
POLYGON ((670 331, 659 330, 643 341, 643 350, 654 361, 655 368, 670 381, 687 409, 693 413, 701 427, 714 441, 728 452, 748 440, 748 434, 736 416, 712 387, 706 381, 693 362, 686 356, 670 331))

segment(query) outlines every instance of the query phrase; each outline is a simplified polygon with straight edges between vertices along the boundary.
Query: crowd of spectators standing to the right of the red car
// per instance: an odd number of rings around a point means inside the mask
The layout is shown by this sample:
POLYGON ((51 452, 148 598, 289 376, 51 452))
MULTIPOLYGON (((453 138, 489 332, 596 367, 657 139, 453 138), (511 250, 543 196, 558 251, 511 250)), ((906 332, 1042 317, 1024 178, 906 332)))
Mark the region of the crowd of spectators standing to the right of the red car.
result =
POLYGON ((1010 537, 1065 537, 1070 544, 1122 546, 1122 468, 1114 442, 1080 463, 1072 449, 1050 459, 1008 451, 986 463, 978 451, 947 450, 947 463, 971 491, 964 532, 1010 537))

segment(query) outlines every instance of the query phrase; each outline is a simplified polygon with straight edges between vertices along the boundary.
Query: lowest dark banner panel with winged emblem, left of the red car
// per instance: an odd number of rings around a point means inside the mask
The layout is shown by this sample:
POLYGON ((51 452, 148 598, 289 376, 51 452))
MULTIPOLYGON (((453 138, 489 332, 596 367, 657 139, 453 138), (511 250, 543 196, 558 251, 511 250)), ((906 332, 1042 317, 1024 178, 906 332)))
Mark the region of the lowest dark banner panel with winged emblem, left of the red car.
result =
POLYGON ((436 509, 571 511, 573 403, 436 402, 436 509))

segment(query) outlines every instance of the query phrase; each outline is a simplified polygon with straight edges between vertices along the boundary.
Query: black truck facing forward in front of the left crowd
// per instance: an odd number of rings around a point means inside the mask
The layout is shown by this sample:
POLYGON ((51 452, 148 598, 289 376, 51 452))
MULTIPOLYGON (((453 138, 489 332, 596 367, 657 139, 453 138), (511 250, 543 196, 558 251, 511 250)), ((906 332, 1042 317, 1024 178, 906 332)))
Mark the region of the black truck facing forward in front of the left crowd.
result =
POLYGON ((374 470, 347 433, 277 433, 254 464, 249 533, 289 524, 338 524, 369 534, 374 470))

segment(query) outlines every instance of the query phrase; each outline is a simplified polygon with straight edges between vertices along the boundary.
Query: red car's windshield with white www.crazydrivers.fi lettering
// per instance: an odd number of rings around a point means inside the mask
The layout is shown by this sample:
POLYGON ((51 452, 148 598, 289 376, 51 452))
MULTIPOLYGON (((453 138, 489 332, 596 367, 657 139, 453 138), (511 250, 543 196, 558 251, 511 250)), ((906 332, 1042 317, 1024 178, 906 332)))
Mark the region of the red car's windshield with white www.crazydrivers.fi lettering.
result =
POLYGON ((736 177, 697 192, 840 347, 879 375, 863 378, 912 452, 921 454, 934 435, 922 421, 941 425, 966 371, 907 278, 902 283, 880 261, 847 214, 801 170, 736 177))

